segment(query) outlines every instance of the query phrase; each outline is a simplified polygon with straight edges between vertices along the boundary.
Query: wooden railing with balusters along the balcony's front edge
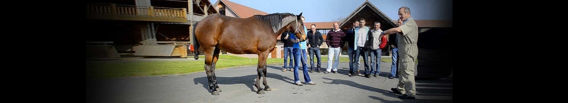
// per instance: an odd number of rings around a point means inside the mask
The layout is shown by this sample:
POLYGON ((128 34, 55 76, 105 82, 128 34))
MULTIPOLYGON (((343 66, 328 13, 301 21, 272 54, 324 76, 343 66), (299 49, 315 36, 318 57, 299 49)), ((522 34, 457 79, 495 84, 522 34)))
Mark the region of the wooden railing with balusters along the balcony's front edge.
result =
POLYGON ((87 13, 89 14, 187 18, 186 12, 186 8, 116 5, 114 3, 87 3, 87 13))

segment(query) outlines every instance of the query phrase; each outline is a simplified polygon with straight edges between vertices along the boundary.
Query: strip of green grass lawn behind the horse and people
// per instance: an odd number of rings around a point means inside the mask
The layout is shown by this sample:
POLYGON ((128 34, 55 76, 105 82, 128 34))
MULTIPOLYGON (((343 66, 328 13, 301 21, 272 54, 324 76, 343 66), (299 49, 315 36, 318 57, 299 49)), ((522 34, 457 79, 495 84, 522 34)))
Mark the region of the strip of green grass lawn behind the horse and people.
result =
MULTIPOLYGON (((199 58, 204 58, 203 55, 199 58)), ((188 57, 193 59, 193 57, 188 57)), ((381 58, 381 61, 391 62, 390 58, 381 58)), ((322 56, 321 62, 327 62, 327 56, 322 56), (325 58, 324 58, 325 57, 325 58)), ((349 62, 348 57, 340 57, 340 62, 349 62)), ((244 58, 233 55, 219 55, 219 61, 216 69, 237 67, 237 66, 254 66, 257 65, 258 58, 244 58)), ((282 58, 268 58, 266 64, 283 64, 282 58)), ((135 76, 153 76, 153 75, 173 75, 173 74, 190 74, 193 72, 205 71, 203 68, 204 61, 116 61, 116 62, 100 62, 87 61, 86 75, 88 79, 110 79, 110 78, 127 78, 135 76)))

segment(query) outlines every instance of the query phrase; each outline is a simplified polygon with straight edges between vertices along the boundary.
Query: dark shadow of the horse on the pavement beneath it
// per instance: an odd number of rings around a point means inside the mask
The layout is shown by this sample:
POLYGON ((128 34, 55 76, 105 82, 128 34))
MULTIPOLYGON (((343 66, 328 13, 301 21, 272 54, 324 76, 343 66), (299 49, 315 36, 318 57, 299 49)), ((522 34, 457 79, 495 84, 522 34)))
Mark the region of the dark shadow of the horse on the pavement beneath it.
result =
MULTIPOLYGON (((278 79, 278 80, 282 80, 282 81, 286 81, 287 83, 290 84, 294 84, 292 81, 294 81, 294 79, 290 79, 286 76, 282 76, 282 75, 278 75, 278 74, 273 74, 270 72, 266 72, 266 78, 273 78, 273 79, 278 79)), ((247 87, 250 88, 250 91, 255 92, 254 90, 254 83, 256 82, 256 74, 254 75, 247 75, 247 76, 237 76, 237 77, 220 77, 217 76, 217 84, 245 84, 247 85, 247 87)), ((202 84, 203 88, 206 89, 208 92, 211 92, 211 90, 209 89, 209 81, 207 80, 207 76, 203 76, 200 78, 194 78, 193 79, 194 84, 202 84)), ((269 83, 270 85, 270 83, 269 83)), ((264 85, 262 84, 262 78, 260 81, 260 86, 264 87, 264 85)), ((221 87, 223 88, 223 87, 221 87)), ((222 89, 223 90, 223 89, 222 89)))

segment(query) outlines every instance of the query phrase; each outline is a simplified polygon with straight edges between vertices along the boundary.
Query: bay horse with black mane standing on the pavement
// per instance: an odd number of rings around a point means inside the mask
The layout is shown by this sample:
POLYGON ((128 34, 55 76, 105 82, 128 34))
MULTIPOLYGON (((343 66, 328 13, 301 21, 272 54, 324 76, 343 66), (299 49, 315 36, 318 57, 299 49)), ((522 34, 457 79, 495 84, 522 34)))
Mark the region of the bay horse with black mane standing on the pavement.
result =
MULTIPOLYGON (((302 12, 303 13, 303 12, 302 12)), ((205 53, 205 73, 209 81, 211 95, 221 92, 215 79, 215 63, 219 59, 219 51, 233 54, 258 54, 257 77, 254 86, 258 94, 272 91, 266 83, 266 58, 276 45, 276 38, 286 29, 294 32, 299 41, 306 41, 306 34, 300 15, 290 13, 274 13, 254 15, 250 18, 233 18, 231 16, 212 14, 195 23, 194 26, 194 59, 198 59, 197 49, 201 46, 205 53), (300 21, 300 22, 298 22, 300 21), (264 78, 264 91, 260 88, 260 79, 264 78)))

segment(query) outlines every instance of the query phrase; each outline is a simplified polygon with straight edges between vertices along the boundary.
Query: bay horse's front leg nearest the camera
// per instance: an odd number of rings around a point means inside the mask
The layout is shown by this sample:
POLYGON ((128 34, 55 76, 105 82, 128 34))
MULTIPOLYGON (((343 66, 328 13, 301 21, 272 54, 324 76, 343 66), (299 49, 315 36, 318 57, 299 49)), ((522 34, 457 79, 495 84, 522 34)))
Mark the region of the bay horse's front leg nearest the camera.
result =
MULTIPOLYGON (((262 91, 262 89, 260 88, 260 77, 264 77, 263 75, 265 75, 265 67, 266 67, 266 56, 268 55, 268 52, 264 52, 264 53, 260 53, 258 54, 258 68, 257 68, 257 72, 258 72, 258 76, 256 76, 256 83, 254 84, 254 86, 256 86, 256 88, 258 89, 258 91, 256 93, 258 94, 264 94, 264 91, 262 91)), ((265 78, 266 79, 266 78, 265 78)), ((266 80, 264 81, 264 85, 266 86, 266 80)))

